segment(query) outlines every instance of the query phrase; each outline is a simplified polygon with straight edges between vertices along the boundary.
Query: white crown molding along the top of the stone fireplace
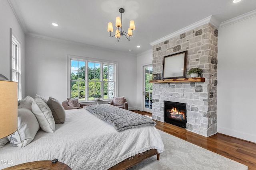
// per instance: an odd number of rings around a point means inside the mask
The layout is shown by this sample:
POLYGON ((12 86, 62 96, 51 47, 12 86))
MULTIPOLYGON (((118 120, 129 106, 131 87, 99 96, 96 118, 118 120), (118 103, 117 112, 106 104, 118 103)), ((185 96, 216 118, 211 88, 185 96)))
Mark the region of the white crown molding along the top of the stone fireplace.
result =
POLYGON ((160 38, 160 39, 158 39, 156 41, 153 41, 152 43, 150 43, 150 45, 152 45, 152 46, 156 45, 156 44, 161 43, 161 42, 163 42, 165 40, 168 40, 168 39, 170 39, 172 37, 175 37, 175 36, 180 35, 180 34, 182 34, 184 32, 187 32, 187 31, 189 31, 191 29, 194 29, 196 27, 204 25, 206 23, 212 23, 217 28, 220 25, 220 22, 218 22, 218 20, 216 20, 213 16, 208 16, 208 17, 206 17, 206 18, 204 18, 204 19, 202 19, 200 21, 197 21, 197 22, 195 22, 195 23, 193 23, 191 25, 188 25, 187 27, 184 27, 184 28, 182 28, 182 29, 180 29, 178 31, 175 31, 174 33, 171 33, 169 35, 166 35, 165 37, 162 37, 162 38, 160 38))

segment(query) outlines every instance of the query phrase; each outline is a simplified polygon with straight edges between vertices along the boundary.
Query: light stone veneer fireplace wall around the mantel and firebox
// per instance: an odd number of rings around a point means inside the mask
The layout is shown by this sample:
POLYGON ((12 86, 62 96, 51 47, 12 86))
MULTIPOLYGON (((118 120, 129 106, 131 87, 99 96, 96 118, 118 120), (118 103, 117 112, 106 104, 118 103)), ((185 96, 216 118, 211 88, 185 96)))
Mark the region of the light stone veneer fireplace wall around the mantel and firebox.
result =
POLYGON ((188 131, 206 137, 217 133, 217 37, 218 29, 207 23, 153 46, 153 74, 162 75, 164 56, 187 50, 186 72, 200 67, 205 78, 205 82, 153 83, 153 119, 164 121, 164 100, 186 103, 188 131))

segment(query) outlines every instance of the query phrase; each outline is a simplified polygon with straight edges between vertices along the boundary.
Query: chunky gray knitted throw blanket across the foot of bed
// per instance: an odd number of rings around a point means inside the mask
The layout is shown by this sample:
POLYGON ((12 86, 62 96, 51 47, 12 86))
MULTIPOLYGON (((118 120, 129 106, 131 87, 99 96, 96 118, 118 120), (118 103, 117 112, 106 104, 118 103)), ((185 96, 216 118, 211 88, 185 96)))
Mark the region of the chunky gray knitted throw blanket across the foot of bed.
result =
POLYGON ((84 109, 90 111, 99 119, 110 123, 116 129, 116 131, 156 125, 156 122, 149 117, 112 106, 111 104, 84 106, 84 109))

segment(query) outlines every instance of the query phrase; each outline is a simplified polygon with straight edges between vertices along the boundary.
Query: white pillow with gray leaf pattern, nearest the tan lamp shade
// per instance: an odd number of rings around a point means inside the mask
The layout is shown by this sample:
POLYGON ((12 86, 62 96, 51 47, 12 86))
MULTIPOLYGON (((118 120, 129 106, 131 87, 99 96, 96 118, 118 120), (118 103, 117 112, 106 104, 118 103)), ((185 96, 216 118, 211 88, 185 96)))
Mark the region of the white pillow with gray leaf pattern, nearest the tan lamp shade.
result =
POLYGON ((10 143, 16 147, 25 147, 40 129, 36 116, 26 108, 18 109, 18 129, 8 136, 10 143))

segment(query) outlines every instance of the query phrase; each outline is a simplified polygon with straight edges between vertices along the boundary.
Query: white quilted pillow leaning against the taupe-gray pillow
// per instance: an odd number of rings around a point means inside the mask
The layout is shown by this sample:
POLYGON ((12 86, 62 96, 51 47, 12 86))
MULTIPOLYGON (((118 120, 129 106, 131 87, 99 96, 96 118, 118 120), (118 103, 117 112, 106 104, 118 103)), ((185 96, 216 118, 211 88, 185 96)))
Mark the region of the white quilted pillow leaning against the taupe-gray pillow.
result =
POLYGON ((52 111, 44 100, 37 97, 32 103, 32 111, 43 131, 54 133, 55 122, 52 116, 52 111))

